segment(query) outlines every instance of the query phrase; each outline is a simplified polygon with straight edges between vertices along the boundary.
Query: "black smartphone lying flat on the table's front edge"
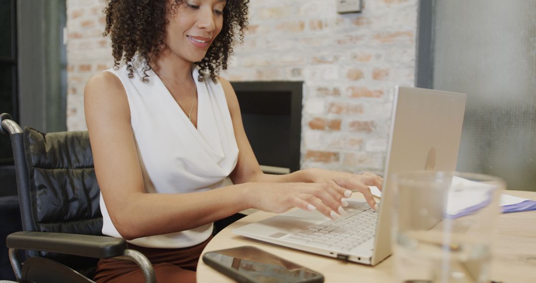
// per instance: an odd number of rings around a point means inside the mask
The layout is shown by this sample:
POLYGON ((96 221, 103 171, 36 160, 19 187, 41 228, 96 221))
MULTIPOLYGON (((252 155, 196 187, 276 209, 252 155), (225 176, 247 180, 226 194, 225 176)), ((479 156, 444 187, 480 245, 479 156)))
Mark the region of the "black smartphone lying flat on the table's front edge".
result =
POLYGON ((251 246, 210 251, 203 262, 237 282, 324 282, 321 273, 251 246))

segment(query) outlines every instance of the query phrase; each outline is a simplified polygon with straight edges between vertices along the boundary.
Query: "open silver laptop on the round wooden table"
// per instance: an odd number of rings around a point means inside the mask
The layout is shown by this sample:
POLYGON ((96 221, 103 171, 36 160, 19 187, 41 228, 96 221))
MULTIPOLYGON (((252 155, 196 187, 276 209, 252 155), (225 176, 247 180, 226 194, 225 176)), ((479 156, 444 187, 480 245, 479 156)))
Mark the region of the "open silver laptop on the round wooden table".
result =
MULTIPOLYGON (((466 94, 395 88, 379 211, 349 200, 348 212, 331 220, 317 211, 292 210, 234 229, 233 233, 284 247, 376 265, 392 254, 392 174, 456 168, 466 94)), ((359 193, 359 192, 355 192, 359 193)), ((433 203, 433 202, 431 202, 433 203)), ((437 207, 441 213, 442 207, 437 207)))

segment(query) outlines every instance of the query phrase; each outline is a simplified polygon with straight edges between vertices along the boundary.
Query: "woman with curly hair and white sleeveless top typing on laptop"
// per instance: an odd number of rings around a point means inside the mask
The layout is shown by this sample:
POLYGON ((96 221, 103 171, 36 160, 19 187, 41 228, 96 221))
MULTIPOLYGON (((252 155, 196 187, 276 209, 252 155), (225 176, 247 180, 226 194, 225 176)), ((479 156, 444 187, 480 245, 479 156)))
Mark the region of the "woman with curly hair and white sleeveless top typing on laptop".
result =
MULTIPOLYGON (((373 174, 305 169, 263 174, 233 88, 218 76, 248 0, 110 0, 113 69, 91 78, 84 104, 101 189, 103 234, 123 237, 153 263, 159 282, 195 281, 212 222, 257 208, 344 213, 344 198, 373 174), (120 62, 124 62, 120 66, 120 62), (222 187, 229 176, 235 185, 222 187)), ((101 260, 99 282, 142 279, 134 263, 101 260)))

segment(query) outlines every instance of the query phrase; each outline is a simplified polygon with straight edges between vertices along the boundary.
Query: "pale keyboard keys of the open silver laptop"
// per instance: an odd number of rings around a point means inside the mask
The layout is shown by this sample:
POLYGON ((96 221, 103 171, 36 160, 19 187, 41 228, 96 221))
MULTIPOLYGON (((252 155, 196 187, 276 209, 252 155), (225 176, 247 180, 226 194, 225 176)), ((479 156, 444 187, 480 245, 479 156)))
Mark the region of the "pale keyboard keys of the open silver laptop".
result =
POLYGON ((378 214, 372 208, 348 211, 337 220, 327 220, 321 224, 308 226, 287 239, 296 242, 332 247, 349 251, 376 234, 378 214))

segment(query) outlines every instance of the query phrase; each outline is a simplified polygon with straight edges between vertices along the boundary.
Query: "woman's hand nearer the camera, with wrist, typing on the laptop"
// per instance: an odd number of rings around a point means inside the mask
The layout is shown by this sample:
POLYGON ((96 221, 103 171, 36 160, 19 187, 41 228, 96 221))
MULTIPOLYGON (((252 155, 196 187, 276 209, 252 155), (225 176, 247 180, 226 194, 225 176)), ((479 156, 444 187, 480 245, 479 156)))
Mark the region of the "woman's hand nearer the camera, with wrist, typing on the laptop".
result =
POLYGON ((344 198, 351 190, 336 185, 318 183, 245 183, 248 185, 247 201, 252 208, 281 213, 293 207, 318 210, 331 219, 344 214, 344 198))

